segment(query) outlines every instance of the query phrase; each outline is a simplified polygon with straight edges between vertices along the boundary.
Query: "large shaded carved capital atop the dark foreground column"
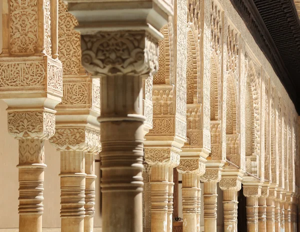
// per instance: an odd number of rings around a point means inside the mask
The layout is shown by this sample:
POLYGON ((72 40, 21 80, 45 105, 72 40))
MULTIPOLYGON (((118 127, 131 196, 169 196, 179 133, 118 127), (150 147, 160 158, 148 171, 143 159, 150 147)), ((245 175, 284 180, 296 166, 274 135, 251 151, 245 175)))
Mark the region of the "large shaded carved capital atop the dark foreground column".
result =
POLYGON ((81 49, 82 65, 93 76, 153 75, 158 70, 158 39, 144 30, 83 34, 81 49))

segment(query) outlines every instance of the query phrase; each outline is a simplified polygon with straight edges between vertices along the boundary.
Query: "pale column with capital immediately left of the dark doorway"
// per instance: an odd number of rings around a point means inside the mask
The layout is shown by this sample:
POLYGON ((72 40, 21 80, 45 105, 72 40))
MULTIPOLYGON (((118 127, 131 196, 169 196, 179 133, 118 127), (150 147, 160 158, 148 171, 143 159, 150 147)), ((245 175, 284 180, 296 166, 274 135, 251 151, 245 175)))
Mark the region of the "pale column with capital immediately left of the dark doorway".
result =
POLYGON ((223 190, 225 232, 237 232, 237 192, 241 188, 241 179, 239 176, 222 176, 219 182, 223 190))

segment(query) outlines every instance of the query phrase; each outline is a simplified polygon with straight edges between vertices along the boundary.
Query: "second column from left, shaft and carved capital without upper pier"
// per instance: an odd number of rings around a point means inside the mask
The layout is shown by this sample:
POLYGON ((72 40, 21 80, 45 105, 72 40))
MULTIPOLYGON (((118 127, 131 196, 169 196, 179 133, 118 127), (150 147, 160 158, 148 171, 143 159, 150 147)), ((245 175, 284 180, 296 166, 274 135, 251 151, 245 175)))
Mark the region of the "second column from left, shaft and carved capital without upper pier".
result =
MULTIPOLYGON (((57 120, 61 120, 61 116, 57 120)), ((88 176, 87 196, 85 196, 85 178, 87 173, 90 173, 89 162, 91 162, 91 157, 87 154, 88 169, 86 173, 85 155, 89 149, 92 152, 99 146, 98 128, 90 127, 90 125, 70 126, 59 124, 56 125, 55 134, 50 138, 50 142, 60 151, 61 231, 84 232, 84 206, 92 203, 93 192, 90 188, 93 187, 93 180, 91 180, 91 177, 95 178, 94 175, 88 176), (86 204, 85 199, 87 199, 86 204)), ((93 164, 91 163, 91 165, 93 164)), ((92 217, 91 211, 89 211, 90 207, 86 209, 87 217, 92 217)), ((90 223, 90 220, 88 220, 88 223, 90 223)))

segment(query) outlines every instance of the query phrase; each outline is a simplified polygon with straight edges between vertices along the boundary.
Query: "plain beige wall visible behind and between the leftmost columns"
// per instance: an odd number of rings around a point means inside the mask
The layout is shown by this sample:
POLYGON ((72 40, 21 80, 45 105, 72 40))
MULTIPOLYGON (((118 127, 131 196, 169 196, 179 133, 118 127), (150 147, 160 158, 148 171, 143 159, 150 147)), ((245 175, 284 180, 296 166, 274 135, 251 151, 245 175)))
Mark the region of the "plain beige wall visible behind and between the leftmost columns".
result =
MULTIPOLYGON (((7 132, 6 104, 0 101, 0 183, 2 188, 0 197, 0 231, 11 231, 8 228, 18 227, 18 142, 7 132), (2 230, 1 230, 2 229, 2 230)), ((60 227, 60 153, 45 141, 45 180, 44 180, 44 213, 42 225, 44 228, 60 227)), ((96 175, 99 176, 99 163, 96 163, 96 175)), ((94 226, 100 227, 100 194, 99 179, 96 179, 96 205, 94 226)), ((43 231, 58 231, 43 229, 43 231)), ((60 230, 59 230, 60 231, 60 230)), ((97 230, 95 230, 97 231, 97 230)))

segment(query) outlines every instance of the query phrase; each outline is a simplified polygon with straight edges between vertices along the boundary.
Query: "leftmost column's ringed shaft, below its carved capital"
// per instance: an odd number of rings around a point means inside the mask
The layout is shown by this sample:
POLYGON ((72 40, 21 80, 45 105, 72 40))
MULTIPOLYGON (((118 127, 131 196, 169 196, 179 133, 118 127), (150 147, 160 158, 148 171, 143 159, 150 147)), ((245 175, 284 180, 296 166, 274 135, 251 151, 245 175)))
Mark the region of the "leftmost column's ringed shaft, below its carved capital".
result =
POLYGON ((19 231, 41 232, 44 146, 42 139, 19 140, 19 231))

